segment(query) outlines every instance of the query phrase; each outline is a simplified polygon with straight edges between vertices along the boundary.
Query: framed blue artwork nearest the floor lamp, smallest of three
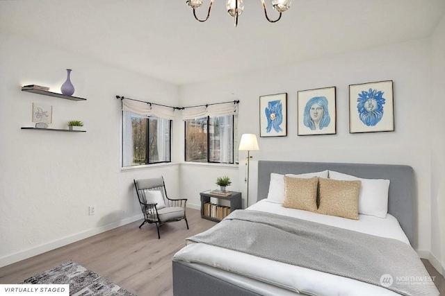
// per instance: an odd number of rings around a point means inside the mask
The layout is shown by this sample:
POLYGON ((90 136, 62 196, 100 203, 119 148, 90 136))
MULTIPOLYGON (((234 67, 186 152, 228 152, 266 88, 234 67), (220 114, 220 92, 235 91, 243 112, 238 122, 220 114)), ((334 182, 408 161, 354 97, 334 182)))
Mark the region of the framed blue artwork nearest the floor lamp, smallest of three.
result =
POLYGON ((287 93, 259 97, 259 137, 286 137, 287 93))

